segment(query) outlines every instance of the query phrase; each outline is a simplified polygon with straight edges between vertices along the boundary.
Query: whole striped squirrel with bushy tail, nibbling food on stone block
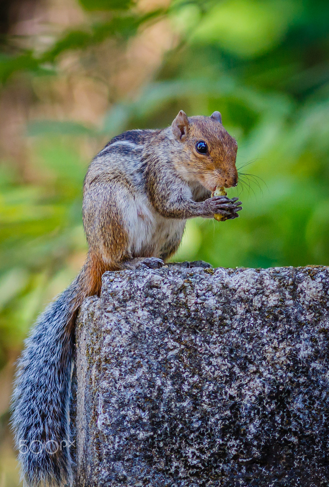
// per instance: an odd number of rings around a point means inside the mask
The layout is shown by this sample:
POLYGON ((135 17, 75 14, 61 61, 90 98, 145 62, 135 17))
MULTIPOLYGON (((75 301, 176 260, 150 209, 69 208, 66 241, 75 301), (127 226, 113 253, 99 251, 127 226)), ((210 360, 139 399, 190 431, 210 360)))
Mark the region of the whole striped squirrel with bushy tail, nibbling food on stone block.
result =
POLYGON ((177 250, 186 220, 238 217, 237 142, 220 112, 163 130, 117 135, 92 160, 84 181, 88 253, 79 275, 39 316, 25 340, 12 397, 12 425, 25 487, 72 485, 69 402, 74 324, 83 300, 99 295, 105 271, 157 268, 177 250))

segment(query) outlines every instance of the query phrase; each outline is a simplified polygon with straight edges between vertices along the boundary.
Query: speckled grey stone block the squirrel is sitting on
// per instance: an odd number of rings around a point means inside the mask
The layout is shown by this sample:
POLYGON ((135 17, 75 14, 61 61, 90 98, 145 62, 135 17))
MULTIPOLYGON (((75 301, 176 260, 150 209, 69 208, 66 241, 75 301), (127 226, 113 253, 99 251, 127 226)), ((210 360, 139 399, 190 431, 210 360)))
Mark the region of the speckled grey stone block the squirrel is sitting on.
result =
POLYGON ((329 268, 106 272, 77 326, 76 486, 329 486, 329 268))

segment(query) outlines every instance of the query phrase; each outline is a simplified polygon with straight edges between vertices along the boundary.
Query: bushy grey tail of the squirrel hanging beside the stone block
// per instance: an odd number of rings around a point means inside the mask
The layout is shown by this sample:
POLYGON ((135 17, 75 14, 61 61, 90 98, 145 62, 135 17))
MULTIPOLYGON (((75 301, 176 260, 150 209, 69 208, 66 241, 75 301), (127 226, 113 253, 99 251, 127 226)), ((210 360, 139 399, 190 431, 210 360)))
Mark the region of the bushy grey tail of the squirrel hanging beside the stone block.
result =
POLYGON ((24 486, 72 484, 69 398, 74 320, 95 292, 88 261, 79 276, 39 316, 18 361, 12 424, 24 486), (89 272, 88 272, 89 271, 89 272))

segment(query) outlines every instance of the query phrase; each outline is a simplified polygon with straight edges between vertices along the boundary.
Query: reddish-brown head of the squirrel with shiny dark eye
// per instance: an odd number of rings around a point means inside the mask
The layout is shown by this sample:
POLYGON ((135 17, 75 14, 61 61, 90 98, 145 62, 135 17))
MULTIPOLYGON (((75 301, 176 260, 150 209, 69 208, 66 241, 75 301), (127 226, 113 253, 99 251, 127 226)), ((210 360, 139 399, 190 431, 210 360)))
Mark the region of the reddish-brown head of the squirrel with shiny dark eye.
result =
POLYGON ((210 191, 217 186, 237 186, 238 144, 225 131, 220 112, 188 118, 181 110, 173 120, 172 132, 181 144, 182 157, 176 165, 184 178, 198 181, 210 191))

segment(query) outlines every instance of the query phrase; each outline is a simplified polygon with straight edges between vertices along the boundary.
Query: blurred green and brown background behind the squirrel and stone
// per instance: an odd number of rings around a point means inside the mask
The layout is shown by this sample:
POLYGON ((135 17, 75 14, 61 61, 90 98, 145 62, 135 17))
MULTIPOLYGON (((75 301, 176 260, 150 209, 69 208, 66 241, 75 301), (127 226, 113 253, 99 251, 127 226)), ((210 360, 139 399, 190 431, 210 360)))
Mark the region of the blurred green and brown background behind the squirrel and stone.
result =
POLYGON ((175 259, 328 265, 328 1, 0 0, 0 487, 13 363, 86 255, 88 163, 180 109, 222 112, 243 210, 189 221, 175 259))

